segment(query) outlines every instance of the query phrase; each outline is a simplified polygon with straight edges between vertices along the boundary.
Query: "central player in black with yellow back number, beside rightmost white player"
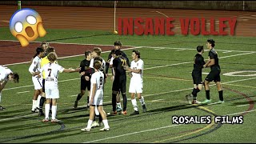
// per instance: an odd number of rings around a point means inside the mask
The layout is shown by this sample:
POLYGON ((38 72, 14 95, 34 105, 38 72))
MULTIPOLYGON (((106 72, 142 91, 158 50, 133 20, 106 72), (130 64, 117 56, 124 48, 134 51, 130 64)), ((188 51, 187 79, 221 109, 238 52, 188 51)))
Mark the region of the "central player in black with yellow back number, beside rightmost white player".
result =
POLYGON ((117 104, 117 94, 119 91, 122 93, 123 99, 123 111, 122 114, 126 115, 126 58, 122 57, 121 50, 114 51, 114 60, 113 60, 113 68, 114 68, 114 82, 112 86, 112 110, 111 114, 117 114, 116 104, 117 104))

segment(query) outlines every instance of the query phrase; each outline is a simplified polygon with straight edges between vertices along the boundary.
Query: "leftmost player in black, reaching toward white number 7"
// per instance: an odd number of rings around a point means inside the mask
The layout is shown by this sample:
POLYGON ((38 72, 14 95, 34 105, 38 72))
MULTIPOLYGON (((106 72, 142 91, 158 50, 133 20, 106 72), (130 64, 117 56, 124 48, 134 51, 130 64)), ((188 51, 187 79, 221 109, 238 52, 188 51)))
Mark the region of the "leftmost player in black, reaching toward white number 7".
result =
POLYGON ((86 88, 88 90, 88 97, 87 97, 87 107, 90 107, 89 105, 89 96, 90 96, 90 81, 86 81, 86 77, 91 76, 90 72, 86 72, 87 70, 90 70, 90 59, 91 59, 91 51, 85 52, 86 59, 82 60, 80 62, 81 70, 79 73, 81 74, 81 85, 80 85, 80 93, 78 94, 78 97, 76 101, 74 102, 74 108, 78 107, 78 101, 82 98, 82 96, 86 93, 86 88))

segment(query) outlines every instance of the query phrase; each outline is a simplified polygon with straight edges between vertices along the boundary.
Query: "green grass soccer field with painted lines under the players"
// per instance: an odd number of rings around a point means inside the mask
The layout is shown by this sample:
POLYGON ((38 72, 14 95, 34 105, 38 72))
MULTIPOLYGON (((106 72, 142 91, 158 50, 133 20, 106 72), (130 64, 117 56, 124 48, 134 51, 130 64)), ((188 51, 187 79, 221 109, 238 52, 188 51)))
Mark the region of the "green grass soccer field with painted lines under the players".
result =
MULTIPOLYGON (((59 74, 58 119, 60 123, 43 123, 42 117, 31 114, 34 86, 28 68, 30 64, 9 66, 18 71, 20 83, 8 82, 2 91, 1 105, 6 110, 0 111, 0 142, 256 142, 255 138, 255 38, 251 37, 204 37, 204 36, 119 36, 106 31, 87 30, 47 30, 45 38, 49 42, 68 42, 81 44, 102 44, 112 46, 120 40, 124 46, 134 46, 141 51, 145 63, 143 74, 147 112, 130 116, 133 107, 128 101, 125 115, 109 116, 110 131, 100 132, 94 128, 90 132, 81 132, 86 126, 89 111, 85 108, 84 96, 77 110, 72 109, 76 95, 80 91, 79 74, 59 74), (224 87, 224 104, 189 105, 185 95, 193 89, 191 71, 196 46, 204 45, 206 39, 214 38, 216 50, 222 67, 222 86, 224 87), (242 71, 236 76, 223 75, 242 71), (250 75, 249 75, 250 74, 250 75), (240 76, 238 76, 240 75, 240 76), (241 76, 242 75, 242 76, 241 76), (242 124, 172 124, 174 115, 188 116, 232 116, 243 115, 242 124)), ((0 28, 1 40, 16 40, 8 28, 0 28)), ((72 49, 70 49, 72 50, 72 49)), ((131 61, 131 51, 124 50, 131 61)), ((109 53, 103 53, 107 58, 109 53)), ((208 51, 203 54, 208 58, 208 51)), ((31 56, 32 57, 32 56, 31 56)), ((84 57, 63 58, 58 60, 61 66, 79 66, 84 57)), ((202 78, 210 69, 203 70, 202 78)), ((127 98, 130 98, 127 79, 127 98)), ((211 83, 211 84, 214 84, 211 83)), ((104 94, 104 110, 111 110, 110 78, 107 79, 104 94)), ((213 102, 218 101, 216 86, 210 86, 213 102)), ((198 93, 198 100, 205 100, 205 91, 198 93)))

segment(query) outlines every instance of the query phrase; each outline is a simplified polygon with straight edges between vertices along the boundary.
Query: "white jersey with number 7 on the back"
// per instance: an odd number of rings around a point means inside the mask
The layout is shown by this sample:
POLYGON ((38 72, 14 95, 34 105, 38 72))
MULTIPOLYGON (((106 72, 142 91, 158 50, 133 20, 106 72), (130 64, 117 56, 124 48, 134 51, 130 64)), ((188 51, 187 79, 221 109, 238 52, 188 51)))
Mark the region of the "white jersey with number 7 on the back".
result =
POLYGON ((45 66, 42 66, 40 72, 45 71, 45 88, 50 89, 52 87, 58 86, 58 73, 62 73, 64 68, 59 66, 56 63, 47 63, 45 66))

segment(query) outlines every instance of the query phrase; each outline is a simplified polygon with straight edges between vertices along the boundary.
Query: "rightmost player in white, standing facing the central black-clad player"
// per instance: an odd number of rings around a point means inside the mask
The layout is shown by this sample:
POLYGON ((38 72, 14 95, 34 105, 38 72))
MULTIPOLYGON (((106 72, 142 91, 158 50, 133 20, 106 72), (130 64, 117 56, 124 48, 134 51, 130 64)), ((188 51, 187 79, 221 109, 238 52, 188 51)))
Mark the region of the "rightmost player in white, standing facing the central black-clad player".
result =
POLYGON ((135 98, 135 94, 137 93, 139 102, 142 104, 143 112, 146 112, 146 104, 144 102, 144 98, 142 97, 143 91, 143 69, 144 69, 144 62, 140 59, 140 52, 138 50, 133 50, 131 54, 133 61, 130 64, 130 68, 127 70, 131 72, 132 77, 130 78, 130 87, 129 93, 131 94, 131 102, 134 106, 134 114, 139 114, 138 106, 135 98))

